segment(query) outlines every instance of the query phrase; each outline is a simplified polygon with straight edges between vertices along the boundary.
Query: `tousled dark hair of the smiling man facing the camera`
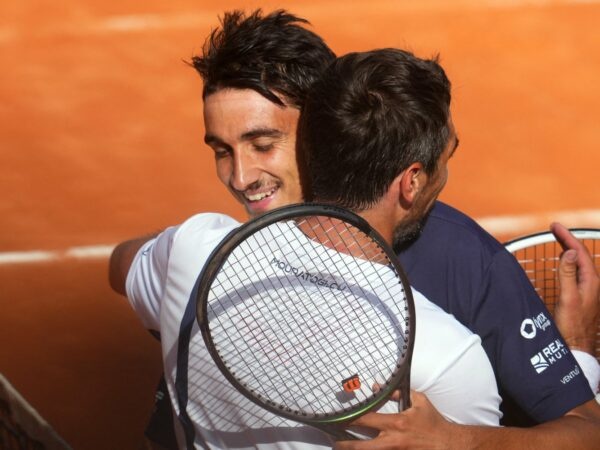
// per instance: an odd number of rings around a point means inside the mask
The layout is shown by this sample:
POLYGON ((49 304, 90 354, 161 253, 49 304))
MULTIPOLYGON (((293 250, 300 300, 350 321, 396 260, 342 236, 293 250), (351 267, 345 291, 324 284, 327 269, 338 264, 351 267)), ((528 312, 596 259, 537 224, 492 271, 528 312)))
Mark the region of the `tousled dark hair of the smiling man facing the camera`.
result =
POLYGON ((268 100, 302 109, 308 89, 335 54, 308 21, 284 10, 263 16, 226 12, 191 65, 204 81, 203 98, 222 88, 252 89, 268 100), (283 98, 281 98, 283 96, 283 98))

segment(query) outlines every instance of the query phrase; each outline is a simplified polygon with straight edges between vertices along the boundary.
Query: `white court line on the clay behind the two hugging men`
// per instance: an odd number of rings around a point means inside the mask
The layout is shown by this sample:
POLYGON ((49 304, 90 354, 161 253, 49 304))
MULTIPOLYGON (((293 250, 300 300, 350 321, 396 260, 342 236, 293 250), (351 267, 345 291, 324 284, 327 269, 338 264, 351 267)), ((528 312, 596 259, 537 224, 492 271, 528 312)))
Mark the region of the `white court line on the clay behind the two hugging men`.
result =
MULTIPOLYGON (((493 235, 510 234, 518 236, 525 233, 546 231, 551 222, 561 222, 569 227, 600 228, 600 210, 553 211, 538 214, 481 217, 475 220, 493 235)), ((48 261, 107 259, 115 245, 88 245, 63 250, 0 252, 0 266, 48 261)))

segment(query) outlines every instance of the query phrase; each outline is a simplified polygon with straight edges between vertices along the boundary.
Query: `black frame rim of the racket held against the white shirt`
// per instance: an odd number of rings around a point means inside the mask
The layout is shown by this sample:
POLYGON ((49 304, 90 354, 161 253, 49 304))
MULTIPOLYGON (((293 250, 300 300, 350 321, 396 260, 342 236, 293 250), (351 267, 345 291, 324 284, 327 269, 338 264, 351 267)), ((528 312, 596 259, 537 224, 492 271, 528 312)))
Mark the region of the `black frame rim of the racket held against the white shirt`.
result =
POLYGON ((392 248, 388 245, 387 242, 381 237, 381 235, 371 227, 371 225, 362 217, 357 214, 349 211, 348 209, 341 208, 335 205, 325 204, 325 203, 295 203, 291 205, 282 206, 279 208, 275 208, 271 211, 268 211, 256 218, 249 220, 248 222, 243 223, 238 228, 230 231, 221 242, 215 247, 215 249, 211 252, 210 256, 207 259, 207 263, 204 268, 200 272, 197 280, 198 291, 196 295, 196 318, 198 321, 198 325, 200 328, 200 332, 202 334, 202 338, 204 339, 204 343, 209 351, 213 361, 221 371, 221 373, 227 378, 227 380, 236 388, 239 392, 241 392, 246 398, 264 408, 269 410, 270 412, 284 416, 294 421, 300 422, 298 418, 295 416, 285 414, 285 412, 281 411, 278 408, 270 407, 269 405, 259 402, 253 395, 251 395, 238 381, 237 379, 229 372, 225 364, 221 361, 218 353, 215 349, 215 346, 212 342, 212 337, 210 335, 210 330, 208 327, 207 318, 207 305, 206 299, 208 298, 208 294, 210 292, 210 287, 212 284, 212 280, 221 270, 225 260, 229 256, 229 254, 237 247, 240 242, 243 242, 248 236, 254 234, 255 232, 282 220, 298 218, 302 216, 328 216, 336 219, 343 220, 360 231, 365 233, 371 239, 373 239, 384 251, 388 260, 394 266, 394 270, 398 275, 402 285, 404 286, 404 291, 406 295, 406 303, 409 309, 409 330, 408 333, 408 344, 407 344, 407 361, 404 364, 403 371, 398 376, 398 380, 400 380, 397 384, 391 384, 384 388, 384 393, 381 395, 379 400, 372 405, 372 407, 368 410, 359 411, 356 414, 350 414, 345 420, 340 421, 337 418, 321 418, 317 420, 307 420, 302 421, 307 425, 311 425, 321 429, 322 431, 330 434, 336 440, 356 440, 358 439, 354 434, 351 434, 345 431, 342 428, 342 425, 352 422, 358 419, 361 415, 366 414, 373 409, 381 406, 385 403, 392 394, 396 390, 400 390, 401 393, 401 404, 403 409, 407 409, 411 406, 410 402, 410 369, 411 369, 411 360, 412 353, 414 349, 414 341, 415 341, 415 305, 414 298, 412 295, 412 290, 410 284, 408 282, 408 277, 402 268, 398 257, 392 250, 392 248), (404 381, 404 382, 402 382, 404 381))

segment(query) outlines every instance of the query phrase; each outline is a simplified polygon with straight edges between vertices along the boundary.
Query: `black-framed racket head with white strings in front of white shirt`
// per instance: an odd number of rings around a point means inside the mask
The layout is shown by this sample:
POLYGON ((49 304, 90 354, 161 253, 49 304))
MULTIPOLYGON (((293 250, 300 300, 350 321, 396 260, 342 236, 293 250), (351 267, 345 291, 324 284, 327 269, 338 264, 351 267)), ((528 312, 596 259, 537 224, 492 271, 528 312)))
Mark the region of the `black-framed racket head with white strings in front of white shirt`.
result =
POLYGON ((393 250, 354 213, 270 211, 215 248, 198 286, 208 351, 259 406, 344 438, 340 425, 397 389, 400 409, 410 406, 412 292, 393 250))

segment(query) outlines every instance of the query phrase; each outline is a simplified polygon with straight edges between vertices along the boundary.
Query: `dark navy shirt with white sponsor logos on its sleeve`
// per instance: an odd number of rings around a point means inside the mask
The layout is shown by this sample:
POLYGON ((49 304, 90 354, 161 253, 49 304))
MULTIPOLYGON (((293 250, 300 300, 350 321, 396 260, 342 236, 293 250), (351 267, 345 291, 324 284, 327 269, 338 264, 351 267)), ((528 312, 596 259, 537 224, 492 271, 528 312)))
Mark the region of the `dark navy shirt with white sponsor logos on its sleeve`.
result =
POLYGON ((436 202, 399 257, 411 285, 481 337, 505 424, 546 422, 594 398, 519 263, 475 221, 436 202))

